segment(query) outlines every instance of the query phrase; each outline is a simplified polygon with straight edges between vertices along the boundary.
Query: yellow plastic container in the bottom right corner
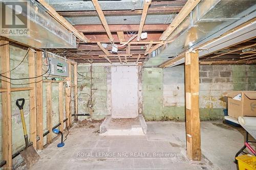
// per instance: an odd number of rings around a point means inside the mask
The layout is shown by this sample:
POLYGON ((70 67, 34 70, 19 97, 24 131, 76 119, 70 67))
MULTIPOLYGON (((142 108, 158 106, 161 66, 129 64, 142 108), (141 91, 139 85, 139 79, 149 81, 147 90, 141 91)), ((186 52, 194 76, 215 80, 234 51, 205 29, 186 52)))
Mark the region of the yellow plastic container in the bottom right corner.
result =
POLYGON ((239 170, 255 170, 256 169, 256 157, 252 155, 242 155, 236 157, 238 160, 239 170))

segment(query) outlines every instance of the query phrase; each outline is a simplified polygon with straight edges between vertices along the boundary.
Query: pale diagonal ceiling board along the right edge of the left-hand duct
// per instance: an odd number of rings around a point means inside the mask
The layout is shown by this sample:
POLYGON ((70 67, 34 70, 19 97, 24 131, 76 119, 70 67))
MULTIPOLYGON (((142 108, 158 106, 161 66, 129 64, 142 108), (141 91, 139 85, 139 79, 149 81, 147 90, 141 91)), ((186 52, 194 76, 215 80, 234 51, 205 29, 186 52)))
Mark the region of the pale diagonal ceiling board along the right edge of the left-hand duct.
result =
POLYGON ((72 32, 78 39, 84 42, 89 42, 88 38, 82 33, 79 33, 63 16, 60 16, 48 3, 44 0, 37 0, 43 7, 45 7, 54 19, 56 19, 63 27, 72 32))

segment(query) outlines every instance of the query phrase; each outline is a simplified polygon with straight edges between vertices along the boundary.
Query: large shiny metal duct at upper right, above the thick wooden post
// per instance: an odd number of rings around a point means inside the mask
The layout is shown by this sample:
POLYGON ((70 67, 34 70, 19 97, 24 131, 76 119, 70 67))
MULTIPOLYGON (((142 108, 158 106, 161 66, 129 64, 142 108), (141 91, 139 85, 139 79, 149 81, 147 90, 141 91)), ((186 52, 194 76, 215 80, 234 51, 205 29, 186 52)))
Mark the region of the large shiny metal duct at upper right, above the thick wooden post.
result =
POLYGON ((167 47, 145 65, 159 65, 189 48, 219 37, 256 16, 254 0, 202 0, 167 38, 167 47))

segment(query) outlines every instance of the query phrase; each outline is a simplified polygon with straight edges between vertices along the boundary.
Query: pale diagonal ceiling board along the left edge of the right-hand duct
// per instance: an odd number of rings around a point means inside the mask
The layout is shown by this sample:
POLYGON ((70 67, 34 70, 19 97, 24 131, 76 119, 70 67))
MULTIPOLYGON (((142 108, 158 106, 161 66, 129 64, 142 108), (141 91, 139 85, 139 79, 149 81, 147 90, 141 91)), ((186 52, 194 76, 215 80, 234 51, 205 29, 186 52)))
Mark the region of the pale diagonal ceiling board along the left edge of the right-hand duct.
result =
POLYGON ((163 32, 159 40, 166 40, 170 34, 180 25, 187 15, 200 3, 201 0, 188 0, 169 27, 163 32))

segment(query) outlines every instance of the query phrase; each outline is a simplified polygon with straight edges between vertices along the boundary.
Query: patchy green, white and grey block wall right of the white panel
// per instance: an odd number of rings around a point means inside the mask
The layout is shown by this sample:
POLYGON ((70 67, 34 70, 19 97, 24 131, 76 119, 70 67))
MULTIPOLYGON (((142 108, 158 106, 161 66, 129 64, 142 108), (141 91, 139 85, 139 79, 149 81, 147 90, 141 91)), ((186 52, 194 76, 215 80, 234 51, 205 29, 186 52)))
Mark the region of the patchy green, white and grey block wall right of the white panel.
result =
MULTIPOLYGON (((143 114, 146 120, 184 120, 184 66, 143 68, 143 114)), ((256 90, 254 65, 200 66, 200 119, 223 119, 223 92, 256 90)))

